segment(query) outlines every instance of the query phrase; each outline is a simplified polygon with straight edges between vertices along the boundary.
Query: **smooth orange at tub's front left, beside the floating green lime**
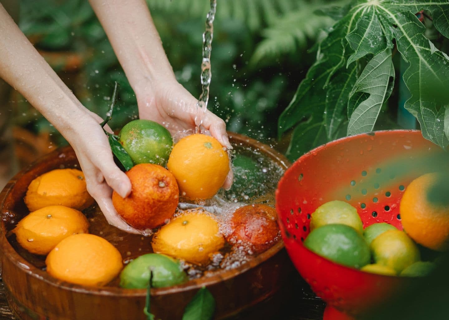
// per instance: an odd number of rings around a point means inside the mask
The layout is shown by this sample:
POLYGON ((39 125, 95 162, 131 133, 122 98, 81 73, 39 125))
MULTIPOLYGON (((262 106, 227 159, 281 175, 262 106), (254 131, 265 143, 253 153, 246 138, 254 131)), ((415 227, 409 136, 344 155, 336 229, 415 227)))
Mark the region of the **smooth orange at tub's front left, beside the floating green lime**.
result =
POLYGON ((87 286, 108 284, 122 270, 119 250, 87 233, 62 240, 45 260, 47 272, 63 281, 87 286))

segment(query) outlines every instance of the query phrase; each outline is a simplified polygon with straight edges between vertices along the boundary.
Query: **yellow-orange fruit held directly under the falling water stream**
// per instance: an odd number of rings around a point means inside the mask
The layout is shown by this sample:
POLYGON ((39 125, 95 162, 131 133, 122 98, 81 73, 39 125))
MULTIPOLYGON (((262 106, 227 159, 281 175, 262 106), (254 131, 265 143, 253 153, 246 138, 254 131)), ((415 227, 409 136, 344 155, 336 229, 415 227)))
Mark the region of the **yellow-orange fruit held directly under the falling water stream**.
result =
POLYGON ((167 168, 175 176, 182 196, 208 199, 225 182, 229 156, 215 138, 192 134, 175 144, 167 168))

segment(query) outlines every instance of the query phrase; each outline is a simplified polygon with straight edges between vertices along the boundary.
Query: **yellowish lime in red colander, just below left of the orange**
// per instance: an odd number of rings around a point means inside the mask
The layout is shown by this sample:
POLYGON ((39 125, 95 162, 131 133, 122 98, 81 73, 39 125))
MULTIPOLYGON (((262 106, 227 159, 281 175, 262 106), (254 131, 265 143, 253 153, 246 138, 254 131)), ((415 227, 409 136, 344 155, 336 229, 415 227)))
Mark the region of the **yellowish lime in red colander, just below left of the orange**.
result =
POLYGON ((377 236, 370 245, 374 262, 394 269, 403 269, 421 259, 417 245, 404 231, 388 230, 377 236))

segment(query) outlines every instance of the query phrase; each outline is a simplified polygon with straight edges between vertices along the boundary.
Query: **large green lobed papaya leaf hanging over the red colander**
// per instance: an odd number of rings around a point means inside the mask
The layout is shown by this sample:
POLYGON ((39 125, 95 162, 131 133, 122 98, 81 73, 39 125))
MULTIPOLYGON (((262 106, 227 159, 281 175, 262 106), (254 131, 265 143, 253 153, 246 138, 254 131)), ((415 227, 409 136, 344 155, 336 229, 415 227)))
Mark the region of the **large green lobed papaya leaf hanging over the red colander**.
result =
POLYGON ((278 121, 279 136, 295 128, 290 158, 303 154, 304 146, 316 147, 321 139, 307 133, 318 134, 320 124, 326 126, 327 141, 335 138, 346 123, 346 103, 348 134, 374 128, 392 92, 393 44, 409 64, 403 78, 411 98, 405 108, 418 119, 424 138, 443 148, 449 144, 449 57, 424 36, 425 27, 415 15, 421 10, 428 10, 436 29, 449 37, 447 0, 358 0, 329 29, 316 62, 278 121), (371 60, 359 75, 352 68, 364 59, 371 60))

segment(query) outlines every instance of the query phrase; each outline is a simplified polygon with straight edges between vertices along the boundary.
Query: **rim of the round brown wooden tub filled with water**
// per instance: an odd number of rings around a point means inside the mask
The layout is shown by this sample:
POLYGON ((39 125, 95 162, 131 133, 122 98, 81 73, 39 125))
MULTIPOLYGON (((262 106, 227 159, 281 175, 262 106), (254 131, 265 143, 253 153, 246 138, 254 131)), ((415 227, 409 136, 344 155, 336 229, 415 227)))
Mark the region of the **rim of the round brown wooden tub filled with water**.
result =
MULTIPOLYGON (((243 145, 247 145, 256 151, 262 151, 264 155, 268 156, 272 160, 274 160, 278 165, 280 165, 283 169, 287 169, 291 163, 286 159, 280 152, 274 150, 272 147, 259 142, 255 139, 248 138, 239 133, 228 132, 229 139, 233 143, 242 143, 243 145)), ((62 149, 58 149, 56 151, 50 152, 47 155, 41 157, 36 160, 32 164, 30 164, 27 168, 22 169, 19 173, 17 173, 4 187, 4 189, 0 192, 0 205, 3 209, 4 202, 9 195, 9 193, 13 190, 15 181, 18 181, 25 175, 28 171, 30 171, 35 164, 44 162, 47 159, 53 158, 56 154, 60 154, 61 152, 73 152, 73 149, 69 147, 65 147, 62 149)), ((22 271, 26 272, 30 276, 38 278, 46 283, 53 285, 55 287, 66 289, 78 293, 86 293, 93 295, 107 295, 107 296, 127 296, 127 297, 143 297, 146 295, 146 289, 123 289, 119 287, 87 287, 79 284, 72 284, 66 281, 57 280, 52 276, 48 275, 47 272, 40 270, 33 266, 30 262, 26 261, 22 256, 20 256, 16 250, 13 249, 5 234, 5 223, 1 221, 0 227, 0 248, 1 253, 5 258, 8 258, 14 265, 20 268, 22 271)), ((203 286, 208 286, 212 284, 216 284, 220 281, 228 280, 237 276, 241 273, 246 272, 247 270, 259 265, 260 263, 268 260, 273 257, 276 253, 281 251, 284 248, 284 243, 281 240, 277 242, 273 247, 268 249, 267 251, 260 253, 257 257, 251 259, 245 264, 242 264, 240 267, 231 270, 219 271, 215 275, 207 277, 203 276, 198 279, 189 280, 185 284, 178 284, 172 287, 166 288, 153 288, 151 289, 152 296, 159 296, 171 293, 179 293, 183 291, 189 291, 193 289, 200 289, 203 286)))

